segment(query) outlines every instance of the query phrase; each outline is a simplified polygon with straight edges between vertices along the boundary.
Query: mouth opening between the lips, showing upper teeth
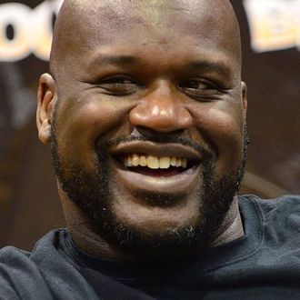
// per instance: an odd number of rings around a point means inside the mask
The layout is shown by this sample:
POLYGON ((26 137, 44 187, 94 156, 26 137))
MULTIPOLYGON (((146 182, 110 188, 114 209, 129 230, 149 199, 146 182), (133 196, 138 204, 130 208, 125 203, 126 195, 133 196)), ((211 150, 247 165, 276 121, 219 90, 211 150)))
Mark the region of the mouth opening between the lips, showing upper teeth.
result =
POLYGON ((178 175, 197 165, 195 160, 186 157, 155 156, 143 153, 122 155, 117 160, 131 172, 156 177, 178 175))

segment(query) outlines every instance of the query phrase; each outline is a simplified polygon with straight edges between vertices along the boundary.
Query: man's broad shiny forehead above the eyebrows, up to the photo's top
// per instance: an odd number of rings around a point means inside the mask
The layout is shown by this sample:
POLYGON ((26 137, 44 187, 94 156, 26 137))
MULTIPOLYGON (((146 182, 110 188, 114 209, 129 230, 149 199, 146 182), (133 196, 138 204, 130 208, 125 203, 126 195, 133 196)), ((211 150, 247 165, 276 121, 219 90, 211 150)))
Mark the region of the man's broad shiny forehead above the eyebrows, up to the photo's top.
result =
POLYGON ((69 22, 61 16, 56 31, 67 34, 55 47, 69 60, 86 62, 87 56, 112 49, 135 55, 201 52, 239 60, 238 28, 225 0, 75 1, 62 15, 69 22))

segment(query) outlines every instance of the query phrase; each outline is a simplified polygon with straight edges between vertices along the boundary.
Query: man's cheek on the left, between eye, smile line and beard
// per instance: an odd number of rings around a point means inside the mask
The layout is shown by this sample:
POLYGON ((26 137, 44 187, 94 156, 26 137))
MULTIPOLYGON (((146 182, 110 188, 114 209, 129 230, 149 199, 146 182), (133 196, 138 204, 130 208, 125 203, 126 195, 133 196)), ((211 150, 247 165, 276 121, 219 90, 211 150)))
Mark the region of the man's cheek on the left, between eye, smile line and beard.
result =
POLYGON ((95 166, 95 142, 125 127, 128 105, 99 96, 70 100, 59 108, 56 138, 60 155, 86 167, 95 166))

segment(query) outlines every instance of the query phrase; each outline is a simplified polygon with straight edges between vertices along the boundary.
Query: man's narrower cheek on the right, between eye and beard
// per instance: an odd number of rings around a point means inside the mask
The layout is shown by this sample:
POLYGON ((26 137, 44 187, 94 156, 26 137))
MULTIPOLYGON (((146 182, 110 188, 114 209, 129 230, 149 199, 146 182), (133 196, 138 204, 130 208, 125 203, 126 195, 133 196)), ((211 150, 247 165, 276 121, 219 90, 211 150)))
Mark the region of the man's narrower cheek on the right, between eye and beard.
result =
POLYGON ((217 107, 202 109, 195 115, 197 130, 217 154, 217 173, 236 170, 241 163, 244 148, 244 117, 242 109, 217 107))

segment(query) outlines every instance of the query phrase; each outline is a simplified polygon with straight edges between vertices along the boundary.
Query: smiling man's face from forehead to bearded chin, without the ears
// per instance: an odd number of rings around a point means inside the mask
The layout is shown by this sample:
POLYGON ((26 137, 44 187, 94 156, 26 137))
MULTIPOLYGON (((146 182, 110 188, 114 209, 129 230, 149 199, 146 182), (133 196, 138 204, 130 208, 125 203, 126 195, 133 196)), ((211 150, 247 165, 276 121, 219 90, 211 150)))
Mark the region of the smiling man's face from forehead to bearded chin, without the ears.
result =
POLYGON ((126 5, 95 7, 69 33, 79 37, 56 82, 55 173, 108 242, 185 255, 225 226, 243 173, 238 46, 207 4, 126 5))

